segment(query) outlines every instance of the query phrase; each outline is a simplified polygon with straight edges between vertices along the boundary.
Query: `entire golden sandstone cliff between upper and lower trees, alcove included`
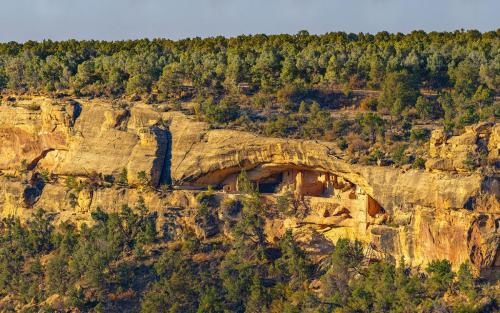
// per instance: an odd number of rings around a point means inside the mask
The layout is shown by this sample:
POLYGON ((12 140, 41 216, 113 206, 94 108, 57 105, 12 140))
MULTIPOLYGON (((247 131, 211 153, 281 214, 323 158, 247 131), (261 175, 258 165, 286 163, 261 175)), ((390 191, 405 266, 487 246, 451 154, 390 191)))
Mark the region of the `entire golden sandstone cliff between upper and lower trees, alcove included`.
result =
POLYGON ((0 139, 3 216, 27 217, 43 207, 85 222, 97 207, 118 210, 142 198, 158 212, 159 227, 192 226, 210 237, 237 214, 189 213, 198 206, 194 190, 212 185, 221 202, 237 197, 245 170, 270 207, 292 195, 296 212, 266 222, 269 240, 292 228, 318 254, 348 237, 364 242, 371 257, 500 266, 499 176, 471 171, 472 161, 498 169, 496 124, 450 138, 435 131, 426 171, 351 164, 332 143, 210 129, 180 112, 106 101, 2 105, 0 139), (118 186, 124 173, 128 188, 118 186), (70 178, 85 186, 69 186, 70 178), (170 182, 181 190, 162 195, 145 188, 170 182))

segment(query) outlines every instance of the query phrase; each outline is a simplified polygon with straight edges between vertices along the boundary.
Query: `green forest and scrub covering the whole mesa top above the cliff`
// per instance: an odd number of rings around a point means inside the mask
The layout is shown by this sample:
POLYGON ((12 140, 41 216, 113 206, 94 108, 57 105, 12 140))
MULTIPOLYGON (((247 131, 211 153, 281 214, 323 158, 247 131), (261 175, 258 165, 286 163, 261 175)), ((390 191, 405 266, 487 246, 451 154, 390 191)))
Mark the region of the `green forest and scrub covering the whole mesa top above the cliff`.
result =
MULTIPOLYGON (((336 141, 423 167, 430 131, 496 120, 500 31, 0 44, 4 94, 141 99, 215 127, 336 141), (423 126, 422 126, 423 125, 423 126)), ((4 99, 5 102, 5 99, 4 99)), ((471 169, 481 156, 470 157, 471 169)))

